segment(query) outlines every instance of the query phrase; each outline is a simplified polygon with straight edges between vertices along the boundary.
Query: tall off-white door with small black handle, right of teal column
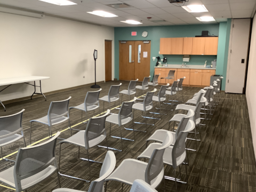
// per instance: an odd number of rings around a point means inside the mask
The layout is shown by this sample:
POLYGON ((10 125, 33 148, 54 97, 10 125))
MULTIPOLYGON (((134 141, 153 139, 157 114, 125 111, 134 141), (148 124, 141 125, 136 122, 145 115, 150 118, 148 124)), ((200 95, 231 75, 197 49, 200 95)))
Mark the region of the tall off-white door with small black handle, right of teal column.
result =
POLYGON ((251 19, 231 23, 226 93, 243 93, 251 19))

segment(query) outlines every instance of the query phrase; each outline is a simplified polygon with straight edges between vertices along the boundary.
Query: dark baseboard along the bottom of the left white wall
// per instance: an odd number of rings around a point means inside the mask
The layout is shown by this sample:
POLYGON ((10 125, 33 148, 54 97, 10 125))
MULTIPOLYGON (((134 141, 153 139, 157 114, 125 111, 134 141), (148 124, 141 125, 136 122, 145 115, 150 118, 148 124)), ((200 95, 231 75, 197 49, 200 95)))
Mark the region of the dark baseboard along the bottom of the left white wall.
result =
MULTIPOLYGON (((105 81, 100 81, 97 83, 104 83, 105 81)), ((50 91, 50 92, 46 92, 44 93, 44 95, 50 95, 50 94, 54 94, 54 93, 60 93, 60 92, 64 92, 64 91, 69 91, 69 90, 74 90, 74 89, 79 89, 82 87, 86 87, 86 86, 91 86, 94 85, 95 83, 89 83, 89 84, 84 84, 84 85, 78 85, 78 86, 74 86, 74 87, 69 87, 66 89, 61 89, 61 90, 56 90, 56 91, 50 91)), ((42 95, 38 95, 38 94, 34 94, 33 98, 38 98, 38 97, 42 97, 42 95)), ((22 98, 17 98, 17 99, 11 99, 11 100, 7 100, 7 101, 2 101, 2 103, 4 105, 7 105, 9 103, 14 103, 14 102, 19 102, 19 101, 24 101, 24 100, 28 100, 30 99, 31 96, 27 96, 27 97, 22 97, 22 98)))

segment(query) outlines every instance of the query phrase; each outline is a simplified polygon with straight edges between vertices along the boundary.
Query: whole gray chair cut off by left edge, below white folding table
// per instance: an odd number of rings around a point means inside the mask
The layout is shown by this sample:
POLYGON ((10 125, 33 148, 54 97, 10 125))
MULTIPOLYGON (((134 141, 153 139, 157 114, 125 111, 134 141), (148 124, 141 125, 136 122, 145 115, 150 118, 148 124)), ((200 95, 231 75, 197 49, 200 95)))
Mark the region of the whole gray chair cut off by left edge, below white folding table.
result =
POLYGON ((2 149, 3 147, 9 145, 12 142, 18 141, 19 139, 22 139, 22 138, 24 140, 24 145, 26 147, 24 131, 22 127, 23 111, 25 111, 25 109, 22 109, 17 114, 0 117, 1 158, 5 159, 6 161, 13 161, 13 160, 3 158, 3 149, 2 149))

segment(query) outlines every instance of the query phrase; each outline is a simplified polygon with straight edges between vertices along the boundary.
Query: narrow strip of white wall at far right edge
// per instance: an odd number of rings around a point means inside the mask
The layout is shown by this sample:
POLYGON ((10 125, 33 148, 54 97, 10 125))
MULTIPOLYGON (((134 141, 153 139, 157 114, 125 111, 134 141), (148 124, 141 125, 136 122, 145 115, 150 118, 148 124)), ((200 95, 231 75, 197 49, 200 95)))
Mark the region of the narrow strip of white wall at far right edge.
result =
POLYGON ((249 117, 252 130, 254 153, 256 154, 256 17, 252 25, 252 37, 250 47, 250 58, 246 85, 246 99, 249 109, 249 117))

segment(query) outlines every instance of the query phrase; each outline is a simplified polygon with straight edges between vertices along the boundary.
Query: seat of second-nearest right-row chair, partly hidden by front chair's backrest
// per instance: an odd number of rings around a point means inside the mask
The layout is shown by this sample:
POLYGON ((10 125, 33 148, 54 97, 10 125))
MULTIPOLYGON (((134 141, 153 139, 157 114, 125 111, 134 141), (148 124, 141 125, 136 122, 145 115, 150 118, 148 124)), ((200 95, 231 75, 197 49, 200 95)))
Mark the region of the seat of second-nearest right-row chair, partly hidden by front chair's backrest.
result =
MULTIPOLYGON (((154 149, 161 147, 162 143, 151 143, 142 154, 137 158, 150 158, 154 149)), ((168 165, 172 165, 172 149, 173 146, 167 147, 164 151, 164 163, 168 165)), ((177 166, 179 166, 186 158, 186 150, 182 155, 177 158, 177 166)))

